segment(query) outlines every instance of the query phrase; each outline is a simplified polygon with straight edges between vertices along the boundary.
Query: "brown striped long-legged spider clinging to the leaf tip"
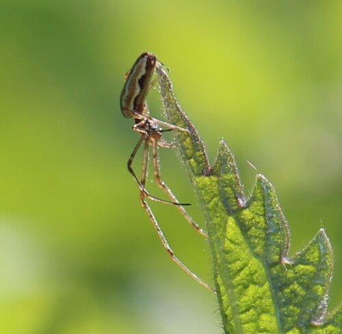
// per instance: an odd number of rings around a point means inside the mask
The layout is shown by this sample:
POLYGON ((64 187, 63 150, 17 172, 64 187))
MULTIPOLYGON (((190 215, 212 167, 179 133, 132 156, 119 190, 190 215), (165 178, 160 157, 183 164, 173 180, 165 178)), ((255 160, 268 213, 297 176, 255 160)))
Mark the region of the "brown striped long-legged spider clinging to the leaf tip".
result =
POLYGON ((138 140, 137 144, 135 145, 135 148, 133 149, 133 152, 131 153, 131 156, 129 157, 129 160, 127 162, 127 168, 131 175, 133 175, 133 178, 135 179, 137 184, 139 185, 140 203, 142 204, 142 207, 144 207, 146 213, 148 214, 148 217, 153 223, 153 227, 155 227, 155 230, 158 233, 161 243, 163 244, 164 248, 166 248, 166 251, 172 258, 172 260, 175 261, 176 264, 178 264, 183 270, 185 270, 185 272, 187 272, 187 274, 196 279, 200 284, 204 285, 209 290, 213 290, 213 288, 207 285, 205 281, 202 281, 202 279, 200 279, 196 274, 194 274, 194 272, 189 270, 187 266, 185 266, 183 262, 181 262, 174 255, 172 248, 168 244, 168 240, 166 240, 166 237, 163 235, 163 231, 159 227, 157 218, 155 218, 152 209, 150 209, 150 206, 145 200, 145 198, 147 197, 153 201, 176 205, 176 207, 179 209, 179 211, 181 211, 181 214, 185 217, 189 224, 192 224, 192 226, 194 227, 194 229, 196 229, 196 231, 198 231, 198 233, 207 237, 207 233, 203 229, 201 229, 198 226, 198 224, 196 224, 196 222, 194 222, 194 220, 185 211, 183 206, 190 204, 179 203, 176 196, 174 196, 168 185, 166 185, 166 183, 163 182, 160 177, 158 162, 158 146, 174 146, 173 144, 170 144, 163 140, 163 132, 177 130, 189 133, 189 130, 183 129, 182 127, 178 127, 170 123, 163 122, 163 120, 158 120, 157 118, 153 118, 150 116, 146 103, 146 97, 150 88, 155 84, 156 80, 152 81, 152 77, 155 73, 155 69, 157 68, 157 66, 163 66, 163 64, 161 64, 161 62, 157 60, 157 57, 153 53, 144 52, 137 58, 131 70, 129 70, 129 72, 127 72, 124 76, 125 83, 124 88, 122 89, 122 92, 120 94, 120 109, 124 117, 134 119, 135 124, 133 125, 132 129, 134 131, 137 131, 141 135, 140 140, 138 140), (161 127, 159 127, 159 125, 166 127, 167 129, 162 129, 161 127), (135 158, 135 155, 137 154, 137 151, 139 151, 142 144, 144 144, 142 177, 141 179, 138 179, 137 175, 135 174, 132 168, 132 163, 135 158), (166 192, 171 201, 166 201, 161 198, 152 196, 145 188, 150 145, 152 146, 153 170, 155 180, 159 187, 163 189, 164 192, 166 192))

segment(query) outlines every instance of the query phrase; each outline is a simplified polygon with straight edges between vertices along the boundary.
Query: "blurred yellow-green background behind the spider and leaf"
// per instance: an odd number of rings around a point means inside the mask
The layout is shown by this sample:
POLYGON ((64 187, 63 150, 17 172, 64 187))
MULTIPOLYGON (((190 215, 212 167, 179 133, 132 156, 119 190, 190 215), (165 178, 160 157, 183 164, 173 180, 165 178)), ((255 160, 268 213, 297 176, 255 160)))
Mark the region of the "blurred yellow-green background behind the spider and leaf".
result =
MULTIPOLYGON (((247 160, 274 183, 291 253, 326 227, 336 306, 341 17, 339 0, 1 1, 0 332, 222 333, 215 296, 168 259, 126 168, 138 136, 118 98, 143 51, 172 69, 211 159, 223 137, 246 194, 247 160)), ((163 179, 202 223, 187 172, 160 151, 163 179)), ((174 207, 153 209, 176 254, 212 283, 205 240, 174 207)))

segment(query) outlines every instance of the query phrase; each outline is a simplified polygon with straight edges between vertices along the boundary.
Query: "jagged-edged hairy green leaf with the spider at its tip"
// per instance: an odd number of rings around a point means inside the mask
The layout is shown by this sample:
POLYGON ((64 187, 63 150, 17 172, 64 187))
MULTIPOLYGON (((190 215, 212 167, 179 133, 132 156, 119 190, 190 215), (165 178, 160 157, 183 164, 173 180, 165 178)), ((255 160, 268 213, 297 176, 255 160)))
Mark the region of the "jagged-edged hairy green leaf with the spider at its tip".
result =
POLYGON ((272 183, 257 175, 246 199, 223 141, 211 167, 162 66, 157 75, 168 120, 189 130, 176 131, 176 142, 205 211, 225 333, 341 333, 342 307, 326 311, 332 249, 324 229, 289 257, 289 227, 272 183))

